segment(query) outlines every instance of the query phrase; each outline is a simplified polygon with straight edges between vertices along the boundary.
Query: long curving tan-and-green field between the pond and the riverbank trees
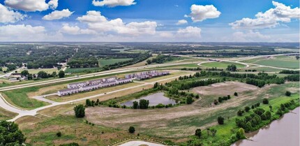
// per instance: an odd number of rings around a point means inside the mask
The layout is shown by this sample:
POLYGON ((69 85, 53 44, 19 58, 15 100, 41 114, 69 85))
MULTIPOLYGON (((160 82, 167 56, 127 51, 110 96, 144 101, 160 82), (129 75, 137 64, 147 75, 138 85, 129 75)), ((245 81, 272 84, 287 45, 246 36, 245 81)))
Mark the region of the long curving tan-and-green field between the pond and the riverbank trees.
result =
MULTIPOLYGON (((236 115, 239 108, 261 101, 263 97, 260 95, 271 93, 273 88, 280 88, 283 92, 274 94, 274 96, 269 94, 269 98, 283 96, 285 89, 290 88, 290 85, 299 86, 299 83, 271 85, 255 91, 241 92, 239 96, 213 107, 209 106, 211 98, 216 99, 218 96, 207 95, 207 97, 202 97, 200 101, 196 101, 193 105, 183 105, 176 108, 153 110, 87 108, 86 113, 89 121, 103 126, 123 129, 123 127, 134 125, 140 133, 178 138, 192 135, 196 128, 203 129, 215 124, 216 117, 220 115, 223 115, 223 117, 236 115)), ((234 89, 230 93, 233 94, 233 92, 234 89)), ((226 95, 224 94, 224 96, 226 95)))

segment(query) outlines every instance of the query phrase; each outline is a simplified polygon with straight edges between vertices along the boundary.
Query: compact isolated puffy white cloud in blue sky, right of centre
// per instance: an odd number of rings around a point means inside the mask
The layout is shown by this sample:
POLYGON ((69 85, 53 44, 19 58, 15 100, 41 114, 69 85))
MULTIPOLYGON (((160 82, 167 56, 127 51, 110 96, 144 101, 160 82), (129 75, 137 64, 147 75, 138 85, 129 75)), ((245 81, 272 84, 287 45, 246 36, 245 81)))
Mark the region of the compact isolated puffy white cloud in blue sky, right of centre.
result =
POLYGON ((190 6, 190 15, 185 17, 191 17, 193 22, 202 22, 203 20, 212 19, 220 16, 220 11, 213 5, 195 5, 190 6))

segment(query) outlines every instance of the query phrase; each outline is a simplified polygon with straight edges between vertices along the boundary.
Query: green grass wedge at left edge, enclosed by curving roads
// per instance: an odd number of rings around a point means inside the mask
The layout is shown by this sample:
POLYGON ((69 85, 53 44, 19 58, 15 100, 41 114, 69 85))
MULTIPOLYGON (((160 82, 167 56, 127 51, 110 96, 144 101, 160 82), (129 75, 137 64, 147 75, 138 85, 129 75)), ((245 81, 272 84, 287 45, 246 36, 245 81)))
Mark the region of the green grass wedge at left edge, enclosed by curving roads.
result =
POLYGON ((13 105, 17 105, 20 108, 24 108, 27 110, 32 110, 35 108, 39 108, 47 105, 43 101, 38 101, 34 98, 29 98, 26 93, 28 92, 37 92, 39 87, 28 87, 22 89, 15 89, 11 91, 3 92, 6 96, 4 96, 9 103, 13 103, 13 105))

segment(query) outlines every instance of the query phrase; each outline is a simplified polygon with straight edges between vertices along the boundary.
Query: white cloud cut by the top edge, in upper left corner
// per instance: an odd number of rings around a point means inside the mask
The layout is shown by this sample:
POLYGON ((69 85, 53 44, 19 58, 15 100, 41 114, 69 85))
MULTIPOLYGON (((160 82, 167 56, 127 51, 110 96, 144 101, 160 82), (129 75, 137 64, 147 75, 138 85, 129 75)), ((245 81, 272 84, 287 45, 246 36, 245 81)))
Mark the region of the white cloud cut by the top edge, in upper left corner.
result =
POLYGON ((43 11, 48 8, 55 9, 58 6, 58 0, 5 0, 4 3, 10 8, 24 11, 43 11))

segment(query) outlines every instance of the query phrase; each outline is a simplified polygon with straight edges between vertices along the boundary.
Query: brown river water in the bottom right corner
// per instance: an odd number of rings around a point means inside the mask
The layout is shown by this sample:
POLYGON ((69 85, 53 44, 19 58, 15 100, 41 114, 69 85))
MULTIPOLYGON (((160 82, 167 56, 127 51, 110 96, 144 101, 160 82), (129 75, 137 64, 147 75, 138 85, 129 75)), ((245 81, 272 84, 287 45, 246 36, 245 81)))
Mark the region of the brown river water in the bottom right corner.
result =
POLYGON ((232 146, 299 146, 299 107, 232 146))

